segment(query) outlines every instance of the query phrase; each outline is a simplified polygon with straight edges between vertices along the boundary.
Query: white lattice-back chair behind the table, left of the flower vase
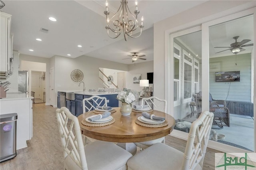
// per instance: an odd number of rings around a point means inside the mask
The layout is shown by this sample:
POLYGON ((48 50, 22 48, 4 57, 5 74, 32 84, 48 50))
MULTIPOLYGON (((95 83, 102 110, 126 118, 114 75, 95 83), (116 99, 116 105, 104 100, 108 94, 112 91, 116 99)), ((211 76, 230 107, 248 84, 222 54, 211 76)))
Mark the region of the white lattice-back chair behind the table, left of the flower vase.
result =
MULTIPOLYGON (((96 109, 97 106, 108 106, 107 104, 107 98, 106 97, 100 97, 100 96, 92 96, 89 98, 85 98, 82 101, 83 105, 83 113, 86 113, 88 111, 96 109)), ((84 136, 85 142, 94 142, 96 139, 90 138, 88 136, 84 136), (87 141, 89 140, 89 141, 87 141)))

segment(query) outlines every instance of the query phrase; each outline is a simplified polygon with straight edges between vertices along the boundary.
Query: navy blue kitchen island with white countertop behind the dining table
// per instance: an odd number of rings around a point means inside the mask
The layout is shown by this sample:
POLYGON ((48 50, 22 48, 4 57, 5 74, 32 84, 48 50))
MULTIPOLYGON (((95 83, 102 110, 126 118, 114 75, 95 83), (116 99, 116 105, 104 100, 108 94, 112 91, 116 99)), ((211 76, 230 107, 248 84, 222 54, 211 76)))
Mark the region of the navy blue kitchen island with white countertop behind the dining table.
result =
POLYGON ((119 102, 116 99, 118 93, 107 92, 107 91, 71 91, 71 90, 60 90, 58 91, 58 108, 62 107, 61 105, 61 97, 60 93, 66 93, 66 103, 64 106, 70 110, 70 112, 75 115, 79 116, 83 113, 82 109, 82 101, 85 98, 90 98, 92 96, 100 96, 106 97, 107 105, 110 107, 118 107, 119 102), (70 98, 70 95, 73 97, 70 98))

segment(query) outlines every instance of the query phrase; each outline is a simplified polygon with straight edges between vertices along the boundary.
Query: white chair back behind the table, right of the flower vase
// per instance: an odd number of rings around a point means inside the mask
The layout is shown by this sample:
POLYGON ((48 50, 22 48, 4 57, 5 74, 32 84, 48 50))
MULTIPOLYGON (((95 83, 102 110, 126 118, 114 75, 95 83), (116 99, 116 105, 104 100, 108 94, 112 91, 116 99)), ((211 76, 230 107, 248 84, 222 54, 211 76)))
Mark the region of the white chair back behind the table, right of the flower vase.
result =
POLYGON ((167 111, 167 101, 164 99, 159 99, 158 97, 148 97, 148 98, 142 98, 141 100, 142 105, 144 105, 144 103, 146 103, 146 105, 148 105, 151 109, 156 109, 156 110, 160 110, 163 111, 164 113, 166 113, 167 111), (153 108, 151 107, 151 103, 154 106, 153 108))

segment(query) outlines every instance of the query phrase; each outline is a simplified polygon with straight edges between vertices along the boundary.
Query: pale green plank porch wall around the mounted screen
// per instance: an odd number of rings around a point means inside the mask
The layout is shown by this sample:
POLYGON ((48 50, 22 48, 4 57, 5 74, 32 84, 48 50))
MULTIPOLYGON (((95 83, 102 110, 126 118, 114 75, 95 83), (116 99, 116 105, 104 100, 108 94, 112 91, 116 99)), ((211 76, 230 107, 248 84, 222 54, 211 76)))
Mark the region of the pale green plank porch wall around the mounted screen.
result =
POLYGON ((240 82, 215 82, 216 70, 210 70, 209 89, 213 99, 251 102, 251 53, 210 58, 210 63, 219 63, 218 71, 240 71, 240 82))

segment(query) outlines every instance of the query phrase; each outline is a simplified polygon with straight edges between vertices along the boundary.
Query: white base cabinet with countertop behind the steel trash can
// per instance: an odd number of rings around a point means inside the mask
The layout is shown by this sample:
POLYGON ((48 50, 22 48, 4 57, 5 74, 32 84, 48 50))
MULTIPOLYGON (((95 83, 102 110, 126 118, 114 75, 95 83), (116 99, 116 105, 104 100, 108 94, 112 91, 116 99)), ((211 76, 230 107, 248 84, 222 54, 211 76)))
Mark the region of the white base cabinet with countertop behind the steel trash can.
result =
POLYGON ((17 113, 16 149, 27 147, 27 140, 32 138, 33 112, 32 99, 25 93, 7 93, 0 99, 0 115, 17 113))

